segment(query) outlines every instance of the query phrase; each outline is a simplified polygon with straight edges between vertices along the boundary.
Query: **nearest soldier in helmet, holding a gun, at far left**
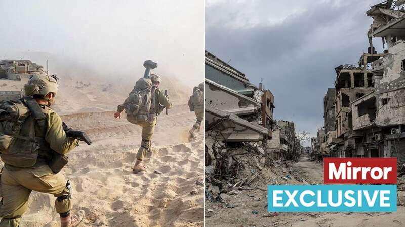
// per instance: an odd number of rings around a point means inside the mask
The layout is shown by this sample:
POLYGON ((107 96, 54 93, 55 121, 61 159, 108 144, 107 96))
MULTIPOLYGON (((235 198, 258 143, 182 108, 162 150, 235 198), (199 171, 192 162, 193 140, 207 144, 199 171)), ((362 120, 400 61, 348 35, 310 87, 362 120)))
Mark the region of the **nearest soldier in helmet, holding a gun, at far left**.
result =
POLYGON ((70 183, 62 173, 54 173, 49 166, 55 152, 67 154, 79 143, 77 139, 66 137, 61 118, 50 108, 58 92, 56 79, 44 74, 34 75, 24 86, 27 97, 22 100, 29 98, 31 102, 21 101, 20 104, 29 107, 30 116, 22 124, 20 134, 14 135, 22 140, 10 145, 8 150, 14 152, 1 154, 2 161, 5 162, 1 174, 3 200, 0 205, 2 217, 0 226, 2 227, 20 225, 21 216, 28 208, 28 198, 32 190, 53 194, 56 197, 55 208, 60 215, 62 227, 77 226, 85 217, 83 210, 75 215, 70 213, 72 207, 70 183), (37 115, 45 116, 38 119, 37 115), (35 144, 37 149, 23 146, 24 143, 29 143, 27 137, 24 139, 26 135, 34 135, 34 142, 32 140, 29 142, 35 144), (34 158, 32 153, 35 154, 34 158))

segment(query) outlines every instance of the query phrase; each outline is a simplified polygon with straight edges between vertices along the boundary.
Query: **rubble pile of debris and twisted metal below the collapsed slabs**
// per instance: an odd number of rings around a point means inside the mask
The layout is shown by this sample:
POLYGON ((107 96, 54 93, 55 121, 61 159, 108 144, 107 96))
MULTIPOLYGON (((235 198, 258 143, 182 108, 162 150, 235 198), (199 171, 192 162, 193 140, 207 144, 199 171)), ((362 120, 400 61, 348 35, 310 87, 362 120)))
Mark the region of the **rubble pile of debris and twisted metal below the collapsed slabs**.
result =
MULTIPOLYGON (((267 185, 311 184, 294 161, 273 160, 258 143, 239 143, 227 147, 218 141, 206 141, 205 156, 212 162, 205 167, 205 197, 220 202, 222 208, 232 208, 229 196, 266 192, 267 185), (209 148, 208 144, 212 144, 209 148)), ((252 196, 254 197, 254 196, 252 196)), ((263 204, 266 203, 266 200, 263 204)))

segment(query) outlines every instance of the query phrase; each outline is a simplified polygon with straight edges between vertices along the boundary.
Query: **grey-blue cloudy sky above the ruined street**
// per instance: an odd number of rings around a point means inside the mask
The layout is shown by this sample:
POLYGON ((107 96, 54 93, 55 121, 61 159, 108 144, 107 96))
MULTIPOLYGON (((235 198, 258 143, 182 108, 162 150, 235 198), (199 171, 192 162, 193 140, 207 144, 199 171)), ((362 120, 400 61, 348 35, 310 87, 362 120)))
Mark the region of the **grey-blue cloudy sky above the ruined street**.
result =
MULTIPOLYGON (((381 0, 206 0, 205 48, 274 94, 277 120, 316 135, 334 67, 367 52, 370 6, 381 0)), ((374 39, 378 52, 381 39, 374 39)))

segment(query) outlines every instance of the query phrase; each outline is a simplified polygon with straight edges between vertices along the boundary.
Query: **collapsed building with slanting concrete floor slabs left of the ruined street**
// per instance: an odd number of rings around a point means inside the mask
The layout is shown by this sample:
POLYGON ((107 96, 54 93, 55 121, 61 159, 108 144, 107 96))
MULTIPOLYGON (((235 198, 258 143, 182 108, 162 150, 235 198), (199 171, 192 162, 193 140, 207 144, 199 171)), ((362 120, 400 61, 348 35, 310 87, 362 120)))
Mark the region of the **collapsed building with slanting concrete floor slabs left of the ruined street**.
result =
POLYGON ((206 129, 221 129, 221 139, 227 142, 263 141, 272 137, 272 93, 260 90, 245 74, 208 51, 204 89, 206 129), (258 92, 261 98, 256 98, 258 92))

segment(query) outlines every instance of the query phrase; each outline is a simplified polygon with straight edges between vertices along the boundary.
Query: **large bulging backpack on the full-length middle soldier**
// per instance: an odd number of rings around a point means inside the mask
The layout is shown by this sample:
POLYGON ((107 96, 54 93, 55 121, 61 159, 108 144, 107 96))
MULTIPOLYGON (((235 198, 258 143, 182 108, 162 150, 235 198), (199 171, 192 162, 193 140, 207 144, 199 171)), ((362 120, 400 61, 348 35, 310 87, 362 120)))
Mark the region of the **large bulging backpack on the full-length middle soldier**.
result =
POLYGON ((146 121, 152 105, 152 81, 148 78, 139 79, 127 100, 125 104, 127 120, 133 124, 146 121))

